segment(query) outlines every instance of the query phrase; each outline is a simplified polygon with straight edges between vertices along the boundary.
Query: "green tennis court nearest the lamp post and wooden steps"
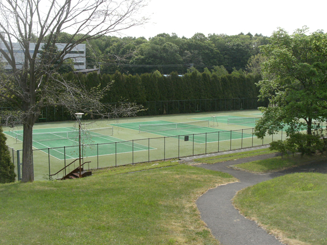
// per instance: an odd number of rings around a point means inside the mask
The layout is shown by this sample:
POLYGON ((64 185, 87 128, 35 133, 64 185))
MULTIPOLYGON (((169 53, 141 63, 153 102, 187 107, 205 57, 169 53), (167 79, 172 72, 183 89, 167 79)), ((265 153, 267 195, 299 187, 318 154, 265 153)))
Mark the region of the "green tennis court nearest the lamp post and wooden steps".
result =
MULTIPOLYGON (((82 155, 92 157, 155 149, 149 148, 147 145, 112 137, 108 135, 112 134, 111 130, 112 128, 102 128, 82 131, 82 155)), ((22 130, 6 131, 4 133, 22 141, 22 130)), ((34 129, 33 147, 41 149, 43 152, 59 160, 78 158, 78 136, 78 130, 73 127, 34 129), (65 148, 63 148, 63 146, 65 146, 65 148)))

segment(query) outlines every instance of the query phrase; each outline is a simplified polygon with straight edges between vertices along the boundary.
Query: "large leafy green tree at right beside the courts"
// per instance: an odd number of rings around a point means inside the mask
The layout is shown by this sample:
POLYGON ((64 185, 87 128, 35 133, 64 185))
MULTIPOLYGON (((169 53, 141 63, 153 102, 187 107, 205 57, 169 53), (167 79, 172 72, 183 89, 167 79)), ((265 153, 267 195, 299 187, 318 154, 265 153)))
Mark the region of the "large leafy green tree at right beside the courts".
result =
MULTIPOLYGON (((260 108, 263 118, 255 127, 260 138, 284 125, 288 125, 290 136, 300 130, 311 135, 314 120, 327 118, 327 34, 307 33, 307 27, 292 35, 278 29, 270 44, 261 47, 267 61, 263 63, 263 80, 258 83, 259 97, 274 106, 260 108)), ((307 142, 310 146, 311 140, 307 142)))

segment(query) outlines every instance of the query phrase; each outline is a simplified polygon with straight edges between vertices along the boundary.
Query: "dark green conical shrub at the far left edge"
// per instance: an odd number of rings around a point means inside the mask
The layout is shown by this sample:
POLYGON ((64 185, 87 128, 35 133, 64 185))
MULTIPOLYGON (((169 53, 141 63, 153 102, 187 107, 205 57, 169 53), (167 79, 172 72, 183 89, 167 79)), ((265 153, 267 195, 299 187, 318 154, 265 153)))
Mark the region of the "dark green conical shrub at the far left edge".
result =
POLYGON ((15 166, 6 145, 6 136, 0 127, 0 183, 15 182, 15 166))

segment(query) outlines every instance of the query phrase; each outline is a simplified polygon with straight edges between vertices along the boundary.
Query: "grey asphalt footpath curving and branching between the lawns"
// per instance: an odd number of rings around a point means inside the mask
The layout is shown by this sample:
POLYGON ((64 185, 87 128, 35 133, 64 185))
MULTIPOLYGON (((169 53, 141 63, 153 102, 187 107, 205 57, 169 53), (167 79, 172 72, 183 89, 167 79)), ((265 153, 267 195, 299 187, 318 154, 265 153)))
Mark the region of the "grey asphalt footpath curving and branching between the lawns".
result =
MULTIPOLYGON (((273 235, 268 234, 255 222, 246 219, 231 204, 236 192, 256 183, 270 180, 285 174, 316 171, 327 173, 325 161, 315 162, 283 171, 268 174, 253 174, 246 171, 230 168, 228 166, 259 159, 267 159, 275 154, 250 157, 216 164, 199 164, 198 167, 223 171, 239 179, 240 182, 218 186, 208 190, 196 202, 202 220, 211 229, 212 234, 222 245, 282 245, 273 235)), ((186 159, 186 160, 190 160, 186 159)))

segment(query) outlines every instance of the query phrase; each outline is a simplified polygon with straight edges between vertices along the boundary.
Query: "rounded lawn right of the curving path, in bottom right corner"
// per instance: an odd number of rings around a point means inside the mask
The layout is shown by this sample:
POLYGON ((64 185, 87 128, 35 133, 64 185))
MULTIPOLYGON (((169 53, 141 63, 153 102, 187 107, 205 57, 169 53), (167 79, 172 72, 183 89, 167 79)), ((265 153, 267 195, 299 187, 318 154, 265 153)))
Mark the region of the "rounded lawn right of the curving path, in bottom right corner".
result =
POLYGON ((233 203, 287 244, 327 244, 326 174, 278 177, 239 191, 233 203))

